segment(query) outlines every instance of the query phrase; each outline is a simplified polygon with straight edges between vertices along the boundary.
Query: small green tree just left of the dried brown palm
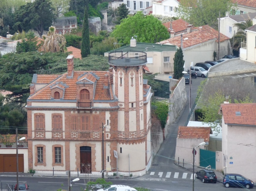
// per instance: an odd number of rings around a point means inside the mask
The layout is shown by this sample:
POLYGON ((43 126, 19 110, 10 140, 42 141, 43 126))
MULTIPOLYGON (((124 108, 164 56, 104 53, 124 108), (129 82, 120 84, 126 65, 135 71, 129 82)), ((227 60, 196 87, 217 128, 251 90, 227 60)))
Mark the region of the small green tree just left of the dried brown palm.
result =
POLYGON ((34 52, 37 51, 37 41, 34 32, 30 31, 26 34, 27 39, 22 39, 22 42, 18 42, 16 46, 16 52, 34 52))

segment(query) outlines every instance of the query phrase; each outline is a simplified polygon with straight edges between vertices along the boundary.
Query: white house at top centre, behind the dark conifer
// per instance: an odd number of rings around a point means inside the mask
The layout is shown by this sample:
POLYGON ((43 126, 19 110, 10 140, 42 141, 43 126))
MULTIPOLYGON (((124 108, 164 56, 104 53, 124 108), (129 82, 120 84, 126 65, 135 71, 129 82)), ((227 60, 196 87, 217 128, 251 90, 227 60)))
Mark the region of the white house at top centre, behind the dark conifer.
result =
POLYGON ((147 7, 152 6, 152 0, 140 0, 140 1, 132 1, 132 0, 121 0, 121 1, 113 1, 111 3, 112 8, 119 7, 122 3, 126 4, 126 7, 129 10, 129 14, 135 14, 138 11, 142 11, 144 15, 147 14, 145 10, 147 7))

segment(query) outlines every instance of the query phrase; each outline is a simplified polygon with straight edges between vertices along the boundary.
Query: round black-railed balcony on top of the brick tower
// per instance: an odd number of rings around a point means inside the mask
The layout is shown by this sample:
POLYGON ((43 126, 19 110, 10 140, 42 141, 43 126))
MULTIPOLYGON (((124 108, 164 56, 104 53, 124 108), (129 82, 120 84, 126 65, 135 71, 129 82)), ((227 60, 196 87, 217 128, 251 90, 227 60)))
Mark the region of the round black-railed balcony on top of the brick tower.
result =
POLYGON ((108 64, 114 66, 141 66, 147 63, 147 53, 141 51, 111 52, 108 54, 108 64))

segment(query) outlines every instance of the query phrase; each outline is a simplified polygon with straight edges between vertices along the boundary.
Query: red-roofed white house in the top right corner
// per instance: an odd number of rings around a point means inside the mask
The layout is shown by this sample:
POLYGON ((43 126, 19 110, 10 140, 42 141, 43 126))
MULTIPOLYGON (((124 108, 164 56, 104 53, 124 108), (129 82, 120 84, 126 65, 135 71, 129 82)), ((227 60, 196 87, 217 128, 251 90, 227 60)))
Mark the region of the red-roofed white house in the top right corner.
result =
POLYGON ((232 0, 235 5, 234 14, 256 13, 255 0, 232 0))

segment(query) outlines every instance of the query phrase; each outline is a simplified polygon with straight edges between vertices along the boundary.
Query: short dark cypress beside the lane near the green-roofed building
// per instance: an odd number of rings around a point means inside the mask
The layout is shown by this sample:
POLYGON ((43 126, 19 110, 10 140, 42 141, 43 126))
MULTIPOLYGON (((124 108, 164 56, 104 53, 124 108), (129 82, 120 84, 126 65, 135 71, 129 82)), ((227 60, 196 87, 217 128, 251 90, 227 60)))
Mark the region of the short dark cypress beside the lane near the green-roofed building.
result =
POLYGON ((185 60, 183 60, 183 51, 181 48, 177 49, 177 52, 174 55, 174 77, 175 79, 180 79, 183 76, 184 71, 184 63, 185 60))

